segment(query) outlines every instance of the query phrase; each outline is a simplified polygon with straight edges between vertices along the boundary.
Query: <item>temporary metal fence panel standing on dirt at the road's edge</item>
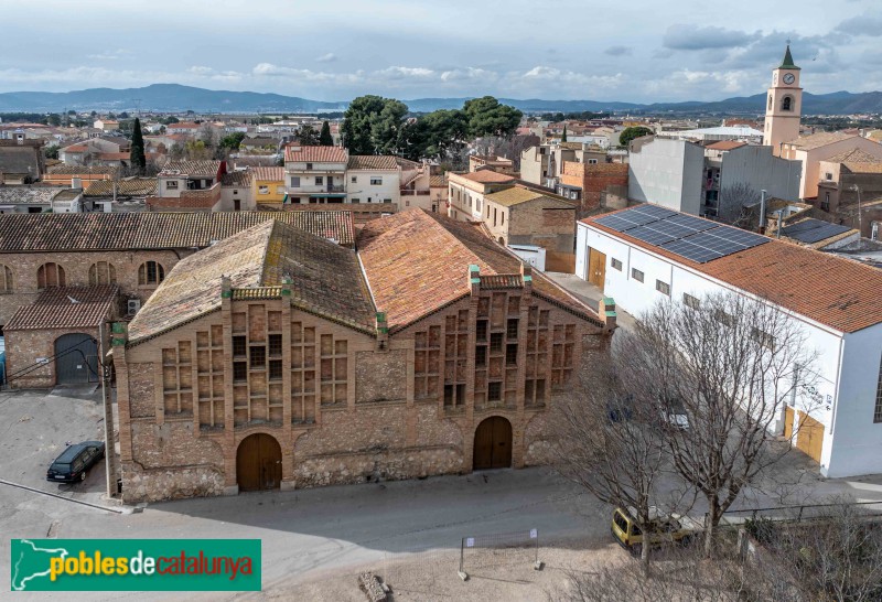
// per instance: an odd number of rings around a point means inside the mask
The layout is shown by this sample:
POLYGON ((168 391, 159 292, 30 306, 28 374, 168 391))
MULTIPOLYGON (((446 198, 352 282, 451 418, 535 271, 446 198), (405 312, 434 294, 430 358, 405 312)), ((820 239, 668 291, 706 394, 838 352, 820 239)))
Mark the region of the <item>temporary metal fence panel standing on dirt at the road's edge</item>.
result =
POLYGON ((460 544, 460 578, 492 572, 540 569, 539 531, 499 533, 463 537, 460 544))

